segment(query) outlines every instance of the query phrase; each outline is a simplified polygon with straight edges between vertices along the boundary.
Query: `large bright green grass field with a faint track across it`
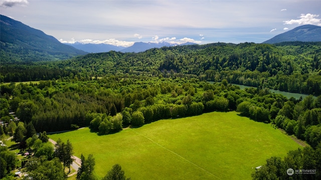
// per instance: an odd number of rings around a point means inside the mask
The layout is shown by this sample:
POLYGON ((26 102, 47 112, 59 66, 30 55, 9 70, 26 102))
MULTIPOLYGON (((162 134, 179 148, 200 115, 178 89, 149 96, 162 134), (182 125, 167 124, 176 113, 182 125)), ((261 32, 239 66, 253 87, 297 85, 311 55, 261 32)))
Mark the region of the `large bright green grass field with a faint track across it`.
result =
POLYGON ((78 157, 94 154, 97 176, 119 163, 131 179, 250 179, 267 158, 300 147, 270 124, 235 111, 158 120, 109 135, 82 128, 49 137, 69 138, 78 157))

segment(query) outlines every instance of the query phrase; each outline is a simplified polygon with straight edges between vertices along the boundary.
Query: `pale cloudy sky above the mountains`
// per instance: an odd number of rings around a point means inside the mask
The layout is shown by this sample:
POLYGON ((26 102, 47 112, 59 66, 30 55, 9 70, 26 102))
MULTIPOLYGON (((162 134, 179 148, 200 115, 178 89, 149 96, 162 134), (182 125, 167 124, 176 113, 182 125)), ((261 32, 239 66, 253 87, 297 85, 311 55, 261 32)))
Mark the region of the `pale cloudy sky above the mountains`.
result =
POLYGON ((61 42, 261 43, 321 26, 321 0, 0 0, 0 13, 61 42))

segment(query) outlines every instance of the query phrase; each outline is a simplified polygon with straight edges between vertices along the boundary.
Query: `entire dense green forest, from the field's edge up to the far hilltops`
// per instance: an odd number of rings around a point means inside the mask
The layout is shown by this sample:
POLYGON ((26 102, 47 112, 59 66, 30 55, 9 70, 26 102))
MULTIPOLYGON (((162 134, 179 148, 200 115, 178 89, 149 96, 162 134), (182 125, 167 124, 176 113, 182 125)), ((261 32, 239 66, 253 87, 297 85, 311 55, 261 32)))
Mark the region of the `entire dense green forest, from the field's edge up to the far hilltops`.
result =
MULTIPOLYGON (((284 160, 268 159, 253 178, 280 173, 273 171, 275 164, 294 163, 288 159, 299 154, 303 156, 302 161, 295 162, 298 168, 320 169, 320 45, 214 43, 153 48, 141 53, 91 53, 63 61, 4 63, 0 80, 8 83, 0 84, 2 139, 13 135, 25 149, 37 139, 33 137, 36 131, 45 142, 46 132, 90 126, 94 132, 108 134, 158 119, 236 110, 310 145, 302 152, 289 152, 284 160), (35 81, 19 83, 29 80, 35 81), (231 83, 255 88, 242 90, 231 83), (269 88, 311 95, 287 98, 271 93, 269 88), (20 120, 13 121, 11 112, 20 120), (309 156, 304 154, 311 154, 316 161, 303 166, 309 156)), ((2 159, 13 158, 7 151, 1 155, 2 159)), ((55 158, 52 155, 49 159, 55 158)), ((7 172, 15 164, 6 167, 7 172)))

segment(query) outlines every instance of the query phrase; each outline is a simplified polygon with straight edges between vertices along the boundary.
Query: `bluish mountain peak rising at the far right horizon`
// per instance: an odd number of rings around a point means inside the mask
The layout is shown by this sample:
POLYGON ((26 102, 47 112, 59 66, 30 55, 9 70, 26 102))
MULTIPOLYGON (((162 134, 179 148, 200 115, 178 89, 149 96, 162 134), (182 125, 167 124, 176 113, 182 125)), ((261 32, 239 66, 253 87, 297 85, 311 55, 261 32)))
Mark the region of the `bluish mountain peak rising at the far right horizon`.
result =
POLYGON ((269 40, 262 43, 278 43, 285 41, 303 41, 303 42, 315 42, 321 41, 321 26, 317 25, 301 25, 295 27, 292 30, 278 34, 269 40))

